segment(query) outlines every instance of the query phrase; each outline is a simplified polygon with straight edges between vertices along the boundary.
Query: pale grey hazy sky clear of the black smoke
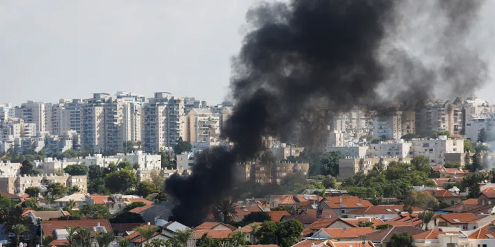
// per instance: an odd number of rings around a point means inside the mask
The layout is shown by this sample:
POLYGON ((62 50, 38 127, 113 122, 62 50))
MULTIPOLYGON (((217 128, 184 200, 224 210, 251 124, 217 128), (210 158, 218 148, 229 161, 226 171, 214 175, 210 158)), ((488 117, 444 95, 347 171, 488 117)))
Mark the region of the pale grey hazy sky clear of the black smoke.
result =
MULTIPOLYGON (((0 102, 154 91, 215 104, 257 0, 0 0, 0 102)), ((478 96, 489 101, 488 83, 478 96)))

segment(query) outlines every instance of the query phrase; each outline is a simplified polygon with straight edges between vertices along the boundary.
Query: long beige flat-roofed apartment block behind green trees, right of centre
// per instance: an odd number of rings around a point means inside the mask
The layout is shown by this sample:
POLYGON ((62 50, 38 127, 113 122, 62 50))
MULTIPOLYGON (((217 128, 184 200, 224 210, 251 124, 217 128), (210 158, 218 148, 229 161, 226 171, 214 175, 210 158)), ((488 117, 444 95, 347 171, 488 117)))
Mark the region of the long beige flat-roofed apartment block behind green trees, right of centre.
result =
POLYGON ((344 159, 339 159, 339 176, 346 179, 361 171, 367 174, 369 170, 373 169, 373 167, 379 163, 385 165, 386 167, 390 162, 410 163, 411 160, 412 158, 347 157, 344 159))

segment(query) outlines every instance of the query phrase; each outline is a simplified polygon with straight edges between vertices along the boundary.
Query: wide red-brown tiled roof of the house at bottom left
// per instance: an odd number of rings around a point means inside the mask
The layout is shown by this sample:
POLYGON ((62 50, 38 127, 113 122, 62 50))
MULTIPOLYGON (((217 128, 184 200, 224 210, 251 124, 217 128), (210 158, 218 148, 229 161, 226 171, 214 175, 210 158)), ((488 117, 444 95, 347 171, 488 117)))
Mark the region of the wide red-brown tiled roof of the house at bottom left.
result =
POLYGON ((93 227, 96 227, 100 224, 100 226, 104 226, 106 232, 111 232, 112 227, 110 225, 110 222, 108 219, 74 219, 74 220, 48 220, 48 221, 42 221, 41 222, 41 227, 43 229, 43 234, 46 236, 53 237, 53 230, 55 229, 63 229, 65 226, 68 227, 73 227, 73 226, 78 226, 78 227, 87 227, 90 229, 93 229, 93 227))

